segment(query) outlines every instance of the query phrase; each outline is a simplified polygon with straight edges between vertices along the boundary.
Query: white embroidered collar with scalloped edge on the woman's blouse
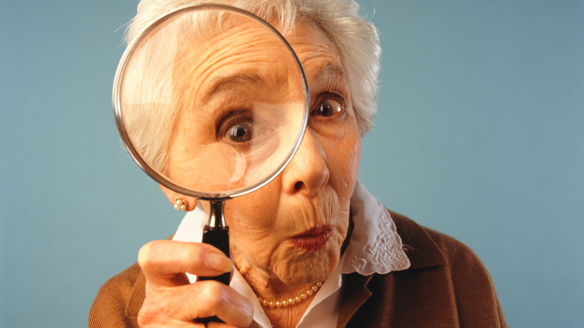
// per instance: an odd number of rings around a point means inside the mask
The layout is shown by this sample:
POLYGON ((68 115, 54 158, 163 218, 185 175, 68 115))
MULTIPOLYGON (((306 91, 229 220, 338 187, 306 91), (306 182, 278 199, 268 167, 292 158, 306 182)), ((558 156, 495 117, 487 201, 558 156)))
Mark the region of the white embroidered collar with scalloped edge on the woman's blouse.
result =
MULTIPOLYGON (((357 181, 351 197, 354 228, 345 250, 342 273, 385 274, 410 266, 394 221, 383 205, 357 181)), ((207 214, 197 208, 185 215, 172 240, 200 242, 207 214)), ((192 281, 194 281, 194 277, 192 281)))

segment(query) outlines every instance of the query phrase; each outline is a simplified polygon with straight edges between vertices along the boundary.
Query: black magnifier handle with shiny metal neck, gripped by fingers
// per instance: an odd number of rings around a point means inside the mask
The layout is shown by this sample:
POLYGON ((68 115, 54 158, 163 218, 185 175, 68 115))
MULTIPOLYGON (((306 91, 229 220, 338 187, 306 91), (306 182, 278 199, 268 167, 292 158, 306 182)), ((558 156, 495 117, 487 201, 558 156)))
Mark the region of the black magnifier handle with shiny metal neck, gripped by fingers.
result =
MULTIPOLYGON (((223 217, 223 207, 225 201, 210 201, 209 221, 203 229, 203 243, 213 245, 230 257, 229 252, 229 227, 225 225, 223 217)), ((215 277, 199 277, 199 281, 216 280, 225 285, 229 285, 231 273, 224 273, 215 277)), ((201 317, 197 319, 201 323, 223 322, 217 316, 201 317)))

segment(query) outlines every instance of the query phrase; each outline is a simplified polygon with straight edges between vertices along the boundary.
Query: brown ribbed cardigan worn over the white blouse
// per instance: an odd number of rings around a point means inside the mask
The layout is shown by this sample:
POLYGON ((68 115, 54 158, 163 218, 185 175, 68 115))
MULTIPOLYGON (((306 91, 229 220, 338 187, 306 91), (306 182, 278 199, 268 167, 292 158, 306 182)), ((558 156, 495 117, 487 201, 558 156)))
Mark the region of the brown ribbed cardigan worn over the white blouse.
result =
MULTIPOLYGON (((337 327, 507 327, 491 277, 472 250, 390 213, 411 267, 347 274, 337 327)), ((107 281, 89 311, 89 327, 138 328, 145 281, 137 264, 107 281)))

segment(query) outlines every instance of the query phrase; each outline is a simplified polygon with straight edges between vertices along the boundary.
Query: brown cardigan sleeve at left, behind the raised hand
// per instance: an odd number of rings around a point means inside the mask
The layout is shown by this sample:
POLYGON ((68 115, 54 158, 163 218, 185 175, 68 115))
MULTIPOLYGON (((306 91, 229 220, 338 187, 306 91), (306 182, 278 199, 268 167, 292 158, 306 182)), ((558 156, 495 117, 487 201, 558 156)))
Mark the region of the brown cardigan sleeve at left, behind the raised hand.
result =
POLYGON ((137 310, 144 299, 144 275, 138 264, 108 280, 89 310, 89 328, 138 328, 137 310))

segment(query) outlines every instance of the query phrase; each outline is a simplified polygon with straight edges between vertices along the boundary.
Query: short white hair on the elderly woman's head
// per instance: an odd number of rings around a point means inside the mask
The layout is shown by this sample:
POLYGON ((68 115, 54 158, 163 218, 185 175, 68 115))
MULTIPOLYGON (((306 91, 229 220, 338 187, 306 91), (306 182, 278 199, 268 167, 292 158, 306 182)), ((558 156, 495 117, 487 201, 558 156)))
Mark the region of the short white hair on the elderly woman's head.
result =
MULTIPOLYGON (((125 40, 130 43, 145 27, 166 13, 183 6, 207 4, 201 0, 141 0, 138 11, 128 23, 125 40)), ((359 5, 353 0, 212 0, 213 4, 234 6, 253 13, 268 21, 277 22, 276 28, 285 34, 300 20, 307 20, 318 27, 339 50, 340 64, 345 70, 350 99, 361 136, 372 127, 377 113, 376 92, 378 89, 379 61, 381 47, 377 29, 359 14, 359 5)), ((168 34, 167 34, 168 35, 168 34)), ((147 58, 139 64, 148 65, 147 58)), ((150 77, 168 74, 167 68, 145 69, 150 77)), ((155 81, 148 76, 135 77, 142 85, 155 81)), ((155 90, 157 88, 149 88, 155 90)), ((139 90, 139 89, 138 89, 139 90)), ((161 95, 148 95, 145 97, 161 95)), ((152 99, 142 99, 141 103, 153 103, 152 99)), ((159 101, 157 103, 160 103, 159 101)), ((175 120, 176 110, 158 110, 160 116, 142 115, 145 109, 137 110, 130 120, 142 131, 133 131, 133 141, 142 155, 152 165, 164 171, 168 160, 168 146, 171 139, 170 128, 175 120)))

